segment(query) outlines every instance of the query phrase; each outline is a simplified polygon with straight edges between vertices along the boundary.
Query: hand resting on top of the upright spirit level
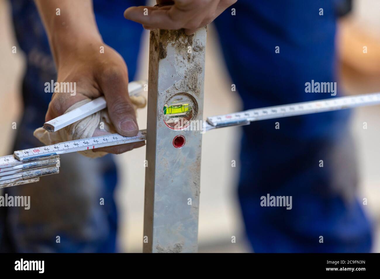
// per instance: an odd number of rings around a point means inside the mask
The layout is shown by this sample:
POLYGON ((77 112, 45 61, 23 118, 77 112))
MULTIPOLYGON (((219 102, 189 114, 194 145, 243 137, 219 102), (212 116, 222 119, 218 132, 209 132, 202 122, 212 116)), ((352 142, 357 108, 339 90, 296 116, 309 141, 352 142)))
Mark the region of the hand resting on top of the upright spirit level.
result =
POLYGON ((212 22, 237 0, 157 0, 157 6, 130 7, 124 17, 141 23, 146 29, 180 29, 193 34, 212 22), (147 9, 144 11, 144 9, 147 9), (147 11, 147 13, 146 13, 147 11))

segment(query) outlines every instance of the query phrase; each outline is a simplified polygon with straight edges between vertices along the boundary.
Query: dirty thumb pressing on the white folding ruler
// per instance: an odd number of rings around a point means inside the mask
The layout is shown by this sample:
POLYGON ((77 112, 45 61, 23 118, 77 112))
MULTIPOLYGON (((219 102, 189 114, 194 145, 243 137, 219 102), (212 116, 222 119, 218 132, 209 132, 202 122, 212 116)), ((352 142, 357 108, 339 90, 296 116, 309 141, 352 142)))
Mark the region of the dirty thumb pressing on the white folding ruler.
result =
POLYGON ((139 128, 135 109, 128 95, 128 75, 125 69, 108 69, 101 79, 101 90, 107 102, 108 114, 116 131, 122 136, 136 136, 139 128))

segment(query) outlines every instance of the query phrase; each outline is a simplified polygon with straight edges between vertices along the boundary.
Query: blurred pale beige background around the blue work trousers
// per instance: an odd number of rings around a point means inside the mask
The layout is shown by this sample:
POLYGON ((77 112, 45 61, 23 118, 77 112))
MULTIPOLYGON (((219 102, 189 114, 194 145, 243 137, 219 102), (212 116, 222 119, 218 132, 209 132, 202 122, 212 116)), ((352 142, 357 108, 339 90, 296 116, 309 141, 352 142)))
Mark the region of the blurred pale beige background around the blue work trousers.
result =
MULTIPOLYGON (((346 94, 380 91, 379 11, 378 0, 354 0, 351 14, 339 22, 339 79, 346 94), (367 46, 367 54, 363 54, 363 46, 367 46)), ((13 153, 11 145, 16 130, 12 129, 12 122, 17 123, 21 117, 20 87, 25 65, 25 57, 21 52, 11 52, 12 46, 17 46, 17 43, 8 0, 0 0, 0 34, 0 156, 4 156, 13 153)), ((211 24, 206 51, 205 117, 241 110, 239 96, 231 91, 232 82, 226 72, 216 36, 217 33, 211 24)), ((149 32, 144 31, 136 79, 147 79, 148 76, 148 40, 149 32)), ((146 108, 138 111, 140 129, 146 128, 146 114, 146 108)), ((368 199, 368 205, 365 205, 364 209, 372 217, 377 228, 374 252, 380 252, 379 123, 379 106, 355 109, 351 119, 360 173, 357 195, 359 200, 368 199), (363 129, 363 122, 367 122, 367 129, 363 129)), ((244 241, 244 230, 236 200, 239 169, 231 167, 231 160, 239 160, 240 134, 239 128, 228 128, 203 136, 199 252, 250 251, 244 241), (231 236, 236 236, 236 243, 231 243, 231 236)), ((116 193, 120 219, 120 251, 141 252, 145 147, 115 158, 120 175, 116 193)))

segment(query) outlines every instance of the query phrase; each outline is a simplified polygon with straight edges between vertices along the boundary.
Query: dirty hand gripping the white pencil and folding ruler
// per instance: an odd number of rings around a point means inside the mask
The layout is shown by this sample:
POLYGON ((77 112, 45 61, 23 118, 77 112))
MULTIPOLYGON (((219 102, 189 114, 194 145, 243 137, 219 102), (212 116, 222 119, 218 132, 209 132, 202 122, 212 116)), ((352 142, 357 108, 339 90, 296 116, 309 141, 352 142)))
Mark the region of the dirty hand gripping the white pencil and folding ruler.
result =
MULTIPOLYGON (((127 66, 114 49, 101 41, 89 41, 87 44, 82 42, 81 46, 66 52, 57 60, 57 82, 75 82, 76 92, 75 95, 54 93, 45 121, 62 115, 76 102, 86 98, 95 99, 104 94, 109 117, 117 132, 127 137, 136 136, 139 129, 128 95, 127 66), (100 53, 100 46, 104 46, 104 53, 100 53)), ((98 127, 93 136, 105 134, 109 133, 98 127)), ((143 145, 144 142, 137 142, 94 151, 119 154, 143 145)))

